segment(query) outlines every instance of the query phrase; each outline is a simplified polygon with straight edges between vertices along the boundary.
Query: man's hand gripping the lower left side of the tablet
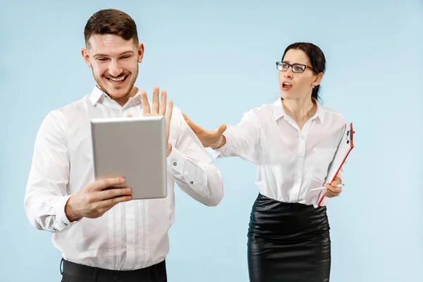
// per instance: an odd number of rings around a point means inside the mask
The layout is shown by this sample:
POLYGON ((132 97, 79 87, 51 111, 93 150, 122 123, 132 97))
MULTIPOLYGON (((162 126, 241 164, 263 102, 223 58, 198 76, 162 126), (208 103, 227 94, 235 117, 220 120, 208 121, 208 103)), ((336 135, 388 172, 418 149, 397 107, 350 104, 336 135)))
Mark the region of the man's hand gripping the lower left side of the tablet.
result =
POLYGON ((132 199, 130 188, 109 188, 125 183, 124 178, 106 178, 85 186, 80 192, 69 197, 65 205, 65 214, 69 221, 82 217, 96 219, 120 202, 132 199))

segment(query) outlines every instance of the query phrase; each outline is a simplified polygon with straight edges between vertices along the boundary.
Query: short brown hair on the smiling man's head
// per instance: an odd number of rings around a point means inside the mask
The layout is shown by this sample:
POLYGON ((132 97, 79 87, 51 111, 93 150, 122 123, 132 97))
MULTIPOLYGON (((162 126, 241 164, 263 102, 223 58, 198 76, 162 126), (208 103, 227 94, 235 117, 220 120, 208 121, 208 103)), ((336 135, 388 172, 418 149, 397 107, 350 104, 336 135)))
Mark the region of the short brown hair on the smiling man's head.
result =
POLYGON ((84 29, 85 45, 92 35, 118 35, 138 44, 137 25, 127 13, 116 9, 100 10, 87 21, 84 29))

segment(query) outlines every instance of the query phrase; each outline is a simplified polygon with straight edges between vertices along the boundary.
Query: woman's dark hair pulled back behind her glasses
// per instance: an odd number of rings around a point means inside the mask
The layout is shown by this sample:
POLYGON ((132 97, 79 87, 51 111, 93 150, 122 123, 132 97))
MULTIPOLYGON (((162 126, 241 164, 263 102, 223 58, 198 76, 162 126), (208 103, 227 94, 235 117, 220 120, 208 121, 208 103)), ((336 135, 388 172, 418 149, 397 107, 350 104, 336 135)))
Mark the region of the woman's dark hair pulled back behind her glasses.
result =
MULTIPOLYGON (((324 73, 326 71, 326 58, 324 57, 323 51, 321 51, 321 49, 316 45, 307 42, 297 42, 290 44, 288 47, 286 47, 281 61, 283 61, 283 57, 290 49, 300 49, 304 51, 305 54, 307 54, 309 61, 312 64, 314 74, 324 73)), ((314 99, 320 99, 319 88, 320 85, 317 85, 313 88, 312 97, 314 99)))

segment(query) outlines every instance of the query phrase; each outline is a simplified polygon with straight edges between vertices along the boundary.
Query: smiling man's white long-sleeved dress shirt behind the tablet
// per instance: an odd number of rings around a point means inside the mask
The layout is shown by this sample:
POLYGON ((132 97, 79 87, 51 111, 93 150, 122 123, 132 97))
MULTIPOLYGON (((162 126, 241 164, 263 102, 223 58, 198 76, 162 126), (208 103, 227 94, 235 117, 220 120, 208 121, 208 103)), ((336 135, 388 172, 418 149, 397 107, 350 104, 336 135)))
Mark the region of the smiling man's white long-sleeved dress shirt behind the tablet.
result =
POLYGON ((53 233, 53 243, 71 262, 131 270, 157 264, 169 250, 174 183, 190 197, 216 206, 223 197, 221 173, 174 107, 167 158, 168 196, 117 204, 97 219, 69 222, 64 207, 72 194, 94 182, 91 118, 142 116, 140 93, 120 106, 97 87, 73 104, 51 111, 35 142, 25 194, 25 213, 35 228, 53 233))

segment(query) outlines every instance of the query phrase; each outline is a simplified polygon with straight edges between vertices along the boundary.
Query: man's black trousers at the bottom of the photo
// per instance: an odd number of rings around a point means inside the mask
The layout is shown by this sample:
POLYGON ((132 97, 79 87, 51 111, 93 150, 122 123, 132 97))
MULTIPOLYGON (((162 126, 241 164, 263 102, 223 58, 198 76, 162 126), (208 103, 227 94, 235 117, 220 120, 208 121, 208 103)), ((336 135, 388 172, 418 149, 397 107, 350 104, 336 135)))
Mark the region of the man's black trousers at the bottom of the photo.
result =
POLYGON ((115 271, 75 264, 62 259, 61 282, 167 282, 166 262, 145 269, 115 271))

